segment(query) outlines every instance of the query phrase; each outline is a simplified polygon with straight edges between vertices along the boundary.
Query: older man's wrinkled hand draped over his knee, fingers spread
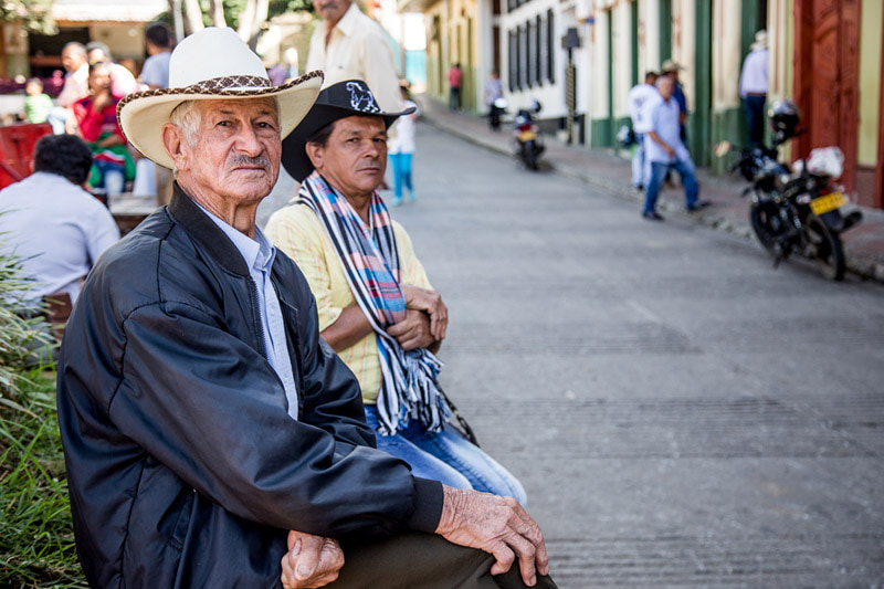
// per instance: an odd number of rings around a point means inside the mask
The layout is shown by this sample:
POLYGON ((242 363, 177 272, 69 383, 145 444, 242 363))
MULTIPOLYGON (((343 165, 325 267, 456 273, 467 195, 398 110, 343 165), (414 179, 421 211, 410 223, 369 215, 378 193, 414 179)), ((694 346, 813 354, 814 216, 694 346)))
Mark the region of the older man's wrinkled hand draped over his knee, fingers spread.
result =
POLYGON ((518 558, 526 585, 549 575, 549 556, 540 526, 513 497, 443 486, 444 502, 436 534, 452 544, 478 548, 497 560, 492 575, 506 572, 518 558))

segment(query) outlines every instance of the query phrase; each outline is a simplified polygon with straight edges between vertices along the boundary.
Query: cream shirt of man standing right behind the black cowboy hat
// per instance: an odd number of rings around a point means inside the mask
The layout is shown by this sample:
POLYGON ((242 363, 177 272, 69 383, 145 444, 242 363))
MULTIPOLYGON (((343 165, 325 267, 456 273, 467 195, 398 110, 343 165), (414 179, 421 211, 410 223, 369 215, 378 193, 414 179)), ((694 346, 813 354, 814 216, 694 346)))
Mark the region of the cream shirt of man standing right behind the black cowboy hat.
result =
POLYGON ((313 31, 307 72, 322 70, 326 87, 346 80, 362 80, 385 112, 401 111, 399 76, 380 24, 362 14, 354 2, 335 25, 326 46, 327 31, 325 21, 313 31))

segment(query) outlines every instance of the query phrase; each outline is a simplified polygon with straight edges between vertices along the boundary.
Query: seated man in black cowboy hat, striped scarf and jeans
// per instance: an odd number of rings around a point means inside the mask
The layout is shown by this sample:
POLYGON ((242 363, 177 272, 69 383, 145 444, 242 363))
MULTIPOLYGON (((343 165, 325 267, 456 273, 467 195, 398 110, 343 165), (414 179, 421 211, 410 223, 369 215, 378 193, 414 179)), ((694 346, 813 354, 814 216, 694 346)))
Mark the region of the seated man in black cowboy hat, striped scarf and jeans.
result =
POLYGON ((434 353, 448 308, 377 192, 386 129, 413 111, 382 112, 359 80, 320 92, 283 143, 298 198, 271 217, 266 233, 304 272, 319 335, 359 380, 378 449, 418 476, 525 504, 518 480, 446 419, 434 353))

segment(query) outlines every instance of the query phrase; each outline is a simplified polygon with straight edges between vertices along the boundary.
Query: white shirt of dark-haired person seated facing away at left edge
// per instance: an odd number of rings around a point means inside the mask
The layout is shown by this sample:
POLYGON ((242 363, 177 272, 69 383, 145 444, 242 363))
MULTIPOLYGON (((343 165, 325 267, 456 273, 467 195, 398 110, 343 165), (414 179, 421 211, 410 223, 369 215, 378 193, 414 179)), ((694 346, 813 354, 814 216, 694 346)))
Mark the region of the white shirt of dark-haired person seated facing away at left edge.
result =
POLYGON ((55 173, 35 172, 0 190, 0 251, 34 281, 29 299, 67 293, 71 303, 98 256, 119 240, 107 207, 55 173))

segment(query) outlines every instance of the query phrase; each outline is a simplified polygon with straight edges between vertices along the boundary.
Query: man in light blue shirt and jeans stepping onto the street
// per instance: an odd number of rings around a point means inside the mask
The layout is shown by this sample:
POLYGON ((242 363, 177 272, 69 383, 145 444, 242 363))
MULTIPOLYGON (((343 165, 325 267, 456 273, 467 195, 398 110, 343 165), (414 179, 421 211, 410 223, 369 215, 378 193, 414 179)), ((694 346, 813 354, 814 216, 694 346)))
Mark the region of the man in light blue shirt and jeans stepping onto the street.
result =
POLYGON ((661 76, 656 83, 660 95, 648 101, 644 109, 646 120, 644 150, 651 162, 651 177, 644 198, 642 217, 652 221, 662 221, 663 215, 656 212, 656 197, 660 185, 670 169, 682 176, 684 196, 688 211, 696 211, 709 204, 698 200, 699 187, 696 180, 696 168, 681 137, 678 103, 673 97, 675 81, 671 76, 661 76))

